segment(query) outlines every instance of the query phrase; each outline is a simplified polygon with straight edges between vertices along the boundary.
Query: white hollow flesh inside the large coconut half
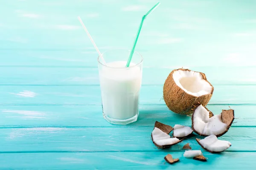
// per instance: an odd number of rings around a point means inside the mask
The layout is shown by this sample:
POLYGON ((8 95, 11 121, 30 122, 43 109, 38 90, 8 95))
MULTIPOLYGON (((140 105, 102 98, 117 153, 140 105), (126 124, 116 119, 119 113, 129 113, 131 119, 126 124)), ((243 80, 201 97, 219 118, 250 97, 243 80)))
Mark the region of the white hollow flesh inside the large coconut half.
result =
POLYGON ((177 70, 172 77, 176 85, 187 94, 199 97, 212 92, 212 86, 199 72, 177 70))

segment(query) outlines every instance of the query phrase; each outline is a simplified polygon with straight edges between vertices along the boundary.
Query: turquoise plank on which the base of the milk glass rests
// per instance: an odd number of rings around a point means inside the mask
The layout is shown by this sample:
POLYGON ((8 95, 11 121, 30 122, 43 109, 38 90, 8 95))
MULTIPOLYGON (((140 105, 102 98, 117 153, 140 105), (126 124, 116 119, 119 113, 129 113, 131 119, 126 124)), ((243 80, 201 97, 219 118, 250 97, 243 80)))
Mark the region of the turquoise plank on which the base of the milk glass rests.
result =
MULTIPOLYGON (((256 106, 231 106, 235 110, 235 119, 232 127, 256 127, 256 106)), ((214 114, 221 113, 222 109, 229 109, 223 105, 209 105, 208 109, 214 114)), ((12 127, 119 127, 111 125, 102 116, 102 107, 99 105, 75 106, 0 106, 0 128, 12 127)), ((169 111, 165 105, 141 105, 137 122, 129 126, 152 127, 155 121, 168 125, 191 126, 191 118, 180 116, 169 111)), ((122 127, 122 126, 120 126, 122 127)))

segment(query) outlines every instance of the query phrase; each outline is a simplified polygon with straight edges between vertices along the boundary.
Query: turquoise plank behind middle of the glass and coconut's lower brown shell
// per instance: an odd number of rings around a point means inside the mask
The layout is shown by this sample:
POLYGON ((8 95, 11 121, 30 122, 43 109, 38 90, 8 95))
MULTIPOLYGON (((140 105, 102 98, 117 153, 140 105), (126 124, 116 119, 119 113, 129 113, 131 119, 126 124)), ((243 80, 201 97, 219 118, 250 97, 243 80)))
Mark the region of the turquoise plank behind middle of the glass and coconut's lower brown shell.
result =
MULTIPOLYGON (((215 85, 209 105, 255 105, 254 85, 215 85)), ((1 86, 0 105, 101 105, 99 85, 1 86)), ((141 105, 165 105, 162 85, 145 85, 141 105)))

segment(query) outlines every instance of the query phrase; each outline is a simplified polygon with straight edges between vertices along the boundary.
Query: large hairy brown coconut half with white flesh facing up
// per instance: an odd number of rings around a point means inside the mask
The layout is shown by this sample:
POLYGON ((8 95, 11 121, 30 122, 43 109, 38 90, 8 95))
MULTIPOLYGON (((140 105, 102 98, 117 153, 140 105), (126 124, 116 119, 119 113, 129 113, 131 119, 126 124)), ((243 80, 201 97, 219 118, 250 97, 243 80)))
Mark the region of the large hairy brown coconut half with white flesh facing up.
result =
POLYGON ((171 111, 191 115, 198 102, 207 105, 213 90, 204 73, 180 68, 167 77, 163 85, 163 99, 171 111))

